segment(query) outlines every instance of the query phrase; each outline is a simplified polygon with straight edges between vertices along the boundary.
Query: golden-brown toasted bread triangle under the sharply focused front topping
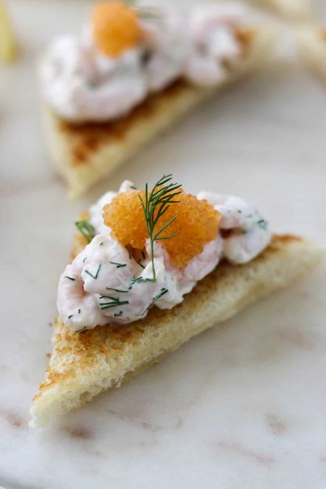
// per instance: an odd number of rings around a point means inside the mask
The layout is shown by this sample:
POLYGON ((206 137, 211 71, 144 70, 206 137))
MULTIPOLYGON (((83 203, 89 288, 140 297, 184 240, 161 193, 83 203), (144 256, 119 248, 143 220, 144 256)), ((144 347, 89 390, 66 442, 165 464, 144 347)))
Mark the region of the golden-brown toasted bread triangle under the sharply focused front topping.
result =
POLYGON ((45 380, 34 396, 30 425, 42 426, 103 391, 120 387, 192 336, 285 287, 318 263, 323 254, 324 250, 310 241, 275 236, 257 259, 246 265, 221 263, 180 305, 169 310, 153 307, 144 320, 73 334, 57 318, 54 351, 45 380))

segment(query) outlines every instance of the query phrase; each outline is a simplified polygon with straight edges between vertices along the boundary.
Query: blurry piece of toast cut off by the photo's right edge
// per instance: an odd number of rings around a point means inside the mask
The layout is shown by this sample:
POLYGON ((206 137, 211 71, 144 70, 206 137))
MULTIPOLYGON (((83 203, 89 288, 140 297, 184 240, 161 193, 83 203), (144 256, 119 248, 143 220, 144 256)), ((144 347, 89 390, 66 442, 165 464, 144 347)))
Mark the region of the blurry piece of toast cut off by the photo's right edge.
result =
POLYGON ((298 29, 296 44, 303 63, 326 83, 326 30, 314 25, 298 29))

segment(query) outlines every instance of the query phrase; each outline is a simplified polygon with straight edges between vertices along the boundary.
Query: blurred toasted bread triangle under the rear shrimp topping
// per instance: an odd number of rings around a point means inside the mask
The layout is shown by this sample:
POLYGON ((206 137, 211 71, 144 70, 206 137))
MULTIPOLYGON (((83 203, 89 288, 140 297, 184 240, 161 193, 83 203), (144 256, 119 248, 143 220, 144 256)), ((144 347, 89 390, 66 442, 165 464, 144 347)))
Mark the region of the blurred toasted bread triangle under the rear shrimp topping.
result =
POLYGON ((241 30, 243 57, 229 67, 228 80, 219 87, 201 88, 178 80, 149 96, 128 116, 106 123, 72 124, 44 107, 50 154, 74 199, 127 160, 143 144, 164 131, 222 85, 260 67, 270 58, 276 32, 270 28, 241 30))

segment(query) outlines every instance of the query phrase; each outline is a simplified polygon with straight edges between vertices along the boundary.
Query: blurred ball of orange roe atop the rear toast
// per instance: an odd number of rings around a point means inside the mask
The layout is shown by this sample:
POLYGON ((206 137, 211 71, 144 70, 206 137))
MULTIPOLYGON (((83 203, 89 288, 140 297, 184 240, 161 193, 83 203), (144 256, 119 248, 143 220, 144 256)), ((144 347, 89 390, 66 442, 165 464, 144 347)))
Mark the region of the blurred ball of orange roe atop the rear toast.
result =
POLYGON ((137 13, 122 1, 97 3, 91 21, 96 46, 107 56, 119 56, 140 39, 137 13))

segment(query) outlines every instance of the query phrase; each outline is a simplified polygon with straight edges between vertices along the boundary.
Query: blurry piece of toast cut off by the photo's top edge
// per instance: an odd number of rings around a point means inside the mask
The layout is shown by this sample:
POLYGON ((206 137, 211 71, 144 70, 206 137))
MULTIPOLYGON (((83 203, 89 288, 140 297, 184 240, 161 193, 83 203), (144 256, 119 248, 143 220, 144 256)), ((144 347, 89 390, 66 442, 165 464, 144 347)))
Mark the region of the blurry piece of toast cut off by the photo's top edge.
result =
POLYGON ((292 21, 305 21, 313 15, 312 0, 248 0, 292 21))

